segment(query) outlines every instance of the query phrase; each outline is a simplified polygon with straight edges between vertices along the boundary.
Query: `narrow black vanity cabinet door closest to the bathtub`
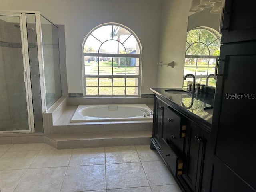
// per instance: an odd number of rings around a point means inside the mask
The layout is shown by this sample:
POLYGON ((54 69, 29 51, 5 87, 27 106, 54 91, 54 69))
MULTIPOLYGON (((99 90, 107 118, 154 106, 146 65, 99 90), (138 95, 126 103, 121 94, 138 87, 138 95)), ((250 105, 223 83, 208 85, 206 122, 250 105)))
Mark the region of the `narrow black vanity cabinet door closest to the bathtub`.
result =
POLYGON ((159 148, 161 148, 163 113, 164 113, 164 108, 162 106, 162 101, 155 96, 154 97, 153 138, 158 144, 159 148))

